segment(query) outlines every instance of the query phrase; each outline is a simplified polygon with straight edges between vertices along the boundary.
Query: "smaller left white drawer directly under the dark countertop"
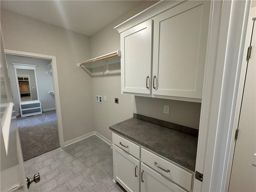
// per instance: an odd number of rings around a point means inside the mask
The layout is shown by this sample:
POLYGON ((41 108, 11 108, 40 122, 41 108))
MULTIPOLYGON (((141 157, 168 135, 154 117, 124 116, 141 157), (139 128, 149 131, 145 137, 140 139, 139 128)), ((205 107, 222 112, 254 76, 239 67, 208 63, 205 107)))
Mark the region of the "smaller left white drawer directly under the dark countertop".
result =
POLYGON ((140 158, 140 146, 114 133, 112 134, 112 141, 113 141, 113 144, 120 147, 122 150, 130 153, 132 156, 136 157, 137 159, 140 158))

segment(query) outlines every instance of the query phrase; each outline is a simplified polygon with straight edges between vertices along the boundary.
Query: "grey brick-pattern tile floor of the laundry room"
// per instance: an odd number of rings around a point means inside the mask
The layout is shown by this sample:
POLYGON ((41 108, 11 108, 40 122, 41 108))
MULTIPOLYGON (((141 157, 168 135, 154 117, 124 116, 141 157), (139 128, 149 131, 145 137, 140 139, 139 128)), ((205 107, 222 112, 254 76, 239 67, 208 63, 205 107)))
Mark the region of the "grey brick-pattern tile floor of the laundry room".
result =
POLYGON ((29 192, 123 192, 113 179, 112 149, 93 135, 24 162, 26 175, 40 173, 29 192))

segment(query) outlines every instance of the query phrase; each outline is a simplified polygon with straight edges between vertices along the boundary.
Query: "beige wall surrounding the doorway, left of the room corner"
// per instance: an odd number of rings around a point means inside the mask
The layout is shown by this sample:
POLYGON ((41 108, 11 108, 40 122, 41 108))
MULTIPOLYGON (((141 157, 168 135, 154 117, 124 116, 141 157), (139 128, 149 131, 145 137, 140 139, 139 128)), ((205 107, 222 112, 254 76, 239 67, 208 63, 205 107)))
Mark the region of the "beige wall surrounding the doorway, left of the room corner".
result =
POLYGON ((56 56, 64 142, 94 131, 88 36, 1 9, 4 48, 56 56))

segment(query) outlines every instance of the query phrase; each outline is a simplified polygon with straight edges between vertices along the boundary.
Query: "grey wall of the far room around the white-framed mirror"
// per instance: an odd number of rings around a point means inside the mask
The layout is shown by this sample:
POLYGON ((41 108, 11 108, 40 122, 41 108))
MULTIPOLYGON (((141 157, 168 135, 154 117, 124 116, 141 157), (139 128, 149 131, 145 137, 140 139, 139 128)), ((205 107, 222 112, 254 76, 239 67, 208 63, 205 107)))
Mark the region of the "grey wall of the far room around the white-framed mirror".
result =
MULTIPOLYGON (((49 91, 54 90, 52 76, 46 73, 46 71, 49 71, 51 69, 50 67, 47 66, 48 64, 50 64, 50 60, 24 57, 24 56, 6 55, 6 62, 8 66, 10 83, 12 87, 12 96, 14 100, 16 115, 20 115, 20 108, 19 108, 18 90, 16 86, 16 78, 14 74, 13 65, 11 63, 37 65, 36 76, 37 76, 37 84, 38 84, 38 95, 39 95, 39 100, 41 101, 42 110, 47 111, 47 110, 55 109, 55 100, 50 94, 48 94, 49 91)), ((33 73, 34 73, 34 70, 33 70, 33 73)), ((31 84, 30 87, 32 88, 32 86, 35 86, 35 85, 31 84)), ((31 90, 34 90, 36 92, 36 87, 34 89, 32 88, 31 90)))

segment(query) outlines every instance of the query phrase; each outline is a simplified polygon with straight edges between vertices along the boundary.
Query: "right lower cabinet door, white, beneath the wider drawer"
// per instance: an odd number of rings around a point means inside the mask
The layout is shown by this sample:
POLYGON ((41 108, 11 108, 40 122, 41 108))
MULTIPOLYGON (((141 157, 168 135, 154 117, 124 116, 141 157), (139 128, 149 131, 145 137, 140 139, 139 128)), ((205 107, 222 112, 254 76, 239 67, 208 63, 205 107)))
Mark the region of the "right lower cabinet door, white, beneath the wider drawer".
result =
POLYGON ((166 179, 162 175, 158 174, 145 164, 140 164, 141 169, 141 192, 186 192, 186 190, 180 188, 170 180, 166 179))

